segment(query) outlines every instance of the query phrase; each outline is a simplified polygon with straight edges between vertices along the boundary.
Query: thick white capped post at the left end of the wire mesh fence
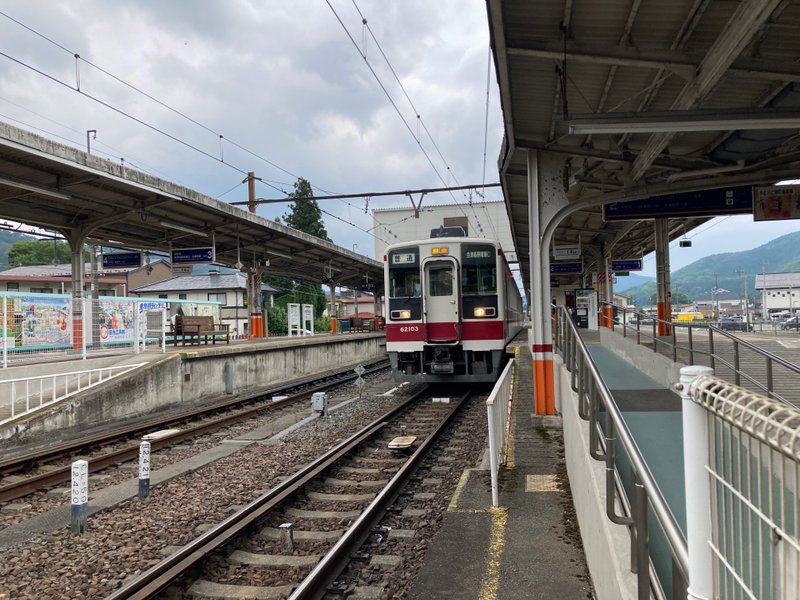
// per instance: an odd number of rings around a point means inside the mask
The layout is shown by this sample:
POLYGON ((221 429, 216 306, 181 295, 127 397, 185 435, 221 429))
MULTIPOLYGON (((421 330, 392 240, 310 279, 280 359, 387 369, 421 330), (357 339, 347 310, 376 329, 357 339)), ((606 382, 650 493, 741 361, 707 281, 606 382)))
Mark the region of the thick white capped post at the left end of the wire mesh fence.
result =
POLYGON ((714 556, 711 540, 711 482, 708 415, 689 396, 689 386, 698 375, 711 375, 710 367, 681 369, 683 408, 683 468, 686 481, 686 542, 689 552, 689 600, 709 600, 714 593, 714 556))

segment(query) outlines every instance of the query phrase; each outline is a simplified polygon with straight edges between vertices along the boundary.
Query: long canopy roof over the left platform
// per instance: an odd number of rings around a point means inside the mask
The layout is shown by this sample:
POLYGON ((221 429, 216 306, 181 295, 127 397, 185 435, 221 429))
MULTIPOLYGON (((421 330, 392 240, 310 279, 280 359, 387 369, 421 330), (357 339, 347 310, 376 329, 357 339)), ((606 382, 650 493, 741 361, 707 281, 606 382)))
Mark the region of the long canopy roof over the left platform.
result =
POLYGON ((0 218, 86 243, 168 251, 214 246, 219 264, 382 287, 383 265, 194 190, 0 123, 0 218))

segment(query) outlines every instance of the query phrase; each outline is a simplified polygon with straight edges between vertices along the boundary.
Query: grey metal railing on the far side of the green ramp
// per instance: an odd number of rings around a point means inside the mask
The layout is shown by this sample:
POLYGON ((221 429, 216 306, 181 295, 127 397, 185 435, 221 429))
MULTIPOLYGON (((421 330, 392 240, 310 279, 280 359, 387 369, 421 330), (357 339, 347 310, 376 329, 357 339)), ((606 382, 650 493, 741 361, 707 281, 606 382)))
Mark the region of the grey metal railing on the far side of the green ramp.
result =
MULTIPOLYGON (((601 302, 602 306, 610 306, 612 308, 616 308, 618 313, 622 314, 622 335, 623 337, 628 337, 628 329, 632 327, 627 323, 628 315, 630 314, 629 311, 626 311, 624 307, 615 305, 610 302, 601 302)), ((724 331, 719 327, 711 324, 705 323, 702 325, 693 324, 693 323, 683 323, 683 322, 675 322, 675 321, 667 321, 664 319, 659 319, 657 317, 652 317, 645 313, 640 313, 638 311, 633 313, 636 315, 636 343, 641 345, 641 337, 644 335, 645 337, 653 340, 653 351, 658 352, 658 345, 664 344, 666 346, 670 346, 672 348, 672 360, 673 362, 678 362, 678 350, 686 351, 689 354, 689 365, 697 364, 695 360, 695 355, 700 356, 707 356, 710 361, 710 366, 713 369, 716 369, 716 363, 721 363, 722 365, 726 366, 727 368, 731 369, 734 374, 734 382, 736 385, 740 385, 741 380, 745 379, 757 387, 759 390, 764 392, 771 398, 784 402, 786 404, 792 404, 789 400, 787 400, 784 396, 782 396, 779 392, 775 390, 774 386, 774 379, 773 379, 773 367, 778 365, 781 366, 796 375, 800 375, 800 366, 787 361, 784 358, 781 358, 777 354, 774 354, 764 348, 761 348, 752 342, 747 340, 741 339, 740 337, 731 334, 728 331, 724 331), (641 330, 641 321, 642 318, 650 320, 652 319, 652 328, 653 334, 652 336, 648 333, 642 333, 641 330), (656 328, 658 324, 663 324, 668 331, 669 340, 665 339, 665 336, 658 336, 656 335, 656 328), (675 334, 675 329, 680 327, 681 329, 687 329, 688 331, 688 346, 684 346, 678 343, 678 339, 675 334), (694 332, 705 332, 705 335, 708 337, 708 350, 699 349, 695 347, 694 340, 699 337, 697 333, 694 332), (714 336, 722 336, 731 341, 733 344, 733 354, 735 362, 731 363, 729 360, 725 358, 722 354, 716 352, 714 350, 714 336), (751 374, 747 373, 741 366, 738 364, 738 356, 740 349, 746 349, 754 354, 757 354, 766 361, 766 371, 767 371, 767 382, 763 382, 758 380, 756 377, 752 376, 751 374)), ((612 329, 615 327, 616 324, 612 322, 612 329)))

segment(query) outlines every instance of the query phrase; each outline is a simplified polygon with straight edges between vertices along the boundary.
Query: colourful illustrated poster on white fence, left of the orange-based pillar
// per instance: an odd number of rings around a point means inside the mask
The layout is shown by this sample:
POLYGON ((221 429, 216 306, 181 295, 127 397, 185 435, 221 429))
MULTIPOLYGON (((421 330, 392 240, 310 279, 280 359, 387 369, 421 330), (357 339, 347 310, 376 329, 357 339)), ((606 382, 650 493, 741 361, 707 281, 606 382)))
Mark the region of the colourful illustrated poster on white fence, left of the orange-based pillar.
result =
POLYGON ((69 302, 68 296, 14 298, 14 312, 22 315, 22 346, 69 345, 69 302))

